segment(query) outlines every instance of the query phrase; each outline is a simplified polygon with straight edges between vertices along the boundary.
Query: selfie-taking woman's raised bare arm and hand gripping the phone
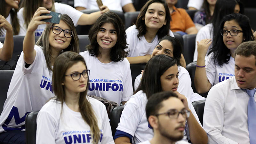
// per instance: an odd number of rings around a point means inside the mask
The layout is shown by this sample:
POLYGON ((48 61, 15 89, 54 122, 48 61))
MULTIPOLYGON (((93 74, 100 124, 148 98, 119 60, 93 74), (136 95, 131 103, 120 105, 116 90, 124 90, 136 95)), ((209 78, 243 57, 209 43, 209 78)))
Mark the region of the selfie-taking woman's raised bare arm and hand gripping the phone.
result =
POLYGON ((47 22, 41 21, 43 19, 50 19, 52 16, 40 16, 43 13, 50 13, 46 8, 39 7, 32 20, 28 24, 28 30, 23 40, 23 53, 24 53, 24 61, 27 64, 31 64, 36 57, 36 51, 34 49, 35 46, 35 31, 40 24, 48 24, 47 22))

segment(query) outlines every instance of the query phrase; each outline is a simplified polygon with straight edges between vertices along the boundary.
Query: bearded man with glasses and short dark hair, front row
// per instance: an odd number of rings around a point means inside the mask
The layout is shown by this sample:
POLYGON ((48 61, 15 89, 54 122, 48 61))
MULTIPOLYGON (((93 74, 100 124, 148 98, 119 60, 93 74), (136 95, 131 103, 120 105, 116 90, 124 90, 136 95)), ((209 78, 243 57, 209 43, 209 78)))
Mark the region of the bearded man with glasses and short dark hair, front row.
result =
POLYGON ((189 144, 184 140, 178 141, 183 138, 189 111, 175 93, 167 91, 153 94, 148 99, 146 115, 154 136, 139 144, 189 144))

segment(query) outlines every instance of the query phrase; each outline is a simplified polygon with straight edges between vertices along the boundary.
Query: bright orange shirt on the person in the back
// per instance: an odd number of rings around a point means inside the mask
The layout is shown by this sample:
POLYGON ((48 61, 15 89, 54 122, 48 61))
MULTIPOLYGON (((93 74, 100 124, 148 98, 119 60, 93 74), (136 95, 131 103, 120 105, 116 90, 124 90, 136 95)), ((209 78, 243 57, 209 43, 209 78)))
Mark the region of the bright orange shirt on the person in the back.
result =
POLYGON ((190 16, 183 8, 176 8, 173 6, 173 12, 170 13, 172 21, 170 22, 172 32, 183 31, 186 29, 195 27, 194 22, 191 20, 190 16))

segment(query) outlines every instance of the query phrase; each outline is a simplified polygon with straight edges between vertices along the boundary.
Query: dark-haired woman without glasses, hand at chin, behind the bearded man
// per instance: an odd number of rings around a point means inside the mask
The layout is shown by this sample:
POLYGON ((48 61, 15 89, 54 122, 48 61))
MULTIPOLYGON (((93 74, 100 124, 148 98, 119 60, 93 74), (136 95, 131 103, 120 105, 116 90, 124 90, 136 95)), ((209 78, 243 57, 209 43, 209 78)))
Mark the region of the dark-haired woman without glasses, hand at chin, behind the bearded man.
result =
POLYGON ((152 57, 146 64, 138 89, 124 105, 120 123, 114 136, 115 143, 134 143, 152 139, 154 133, 149 126, 145 107, 148 98, 156 92, 172 91, 182 100, 185 108, 190 112, 183 140, 191 140, 192 143, 207 143, 207 134, 199 124, 198 116, 189 99, 177 91, 179 85, 179 71, 177 62, 170 56, 161 54, 152 57), (127 126, 128 125, 128 126, 127 126), (188 138, 188 139, 187 139, 188 138))

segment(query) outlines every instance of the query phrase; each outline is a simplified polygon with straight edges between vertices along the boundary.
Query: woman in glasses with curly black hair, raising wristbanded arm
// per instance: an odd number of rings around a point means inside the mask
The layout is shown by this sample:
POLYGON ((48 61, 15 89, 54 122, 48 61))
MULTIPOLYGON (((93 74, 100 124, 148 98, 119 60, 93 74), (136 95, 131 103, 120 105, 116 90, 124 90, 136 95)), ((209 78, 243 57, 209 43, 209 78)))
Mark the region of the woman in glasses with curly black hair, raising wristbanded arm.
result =
POLYGON ((218 84, 235 74, 235 50, 243 42, 252 41, 254 37, 249 18, 240 13, 225 16, 220 23, 219 33, 214 36, 213 47, 204 62, 211 39, 201 40, 195 73, 195 86, 199 93, 208 92, 212 85, 218 84))

